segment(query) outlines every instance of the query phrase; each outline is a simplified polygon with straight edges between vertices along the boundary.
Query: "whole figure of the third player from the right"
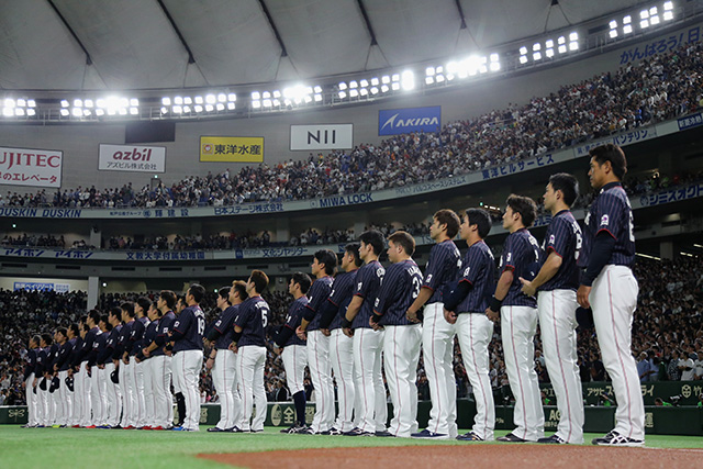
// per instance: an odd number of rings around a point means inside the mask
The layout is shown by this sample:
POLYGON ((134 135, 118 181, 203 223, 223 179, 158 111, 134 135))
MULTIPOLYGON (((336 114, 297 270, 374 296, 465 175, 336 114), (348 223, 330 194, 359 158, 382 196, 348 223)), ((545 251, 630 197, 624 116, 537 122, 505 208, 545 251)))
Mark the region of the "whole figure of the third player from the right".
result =
POLYGON ((521 291, 520 281, 520 277, 532 280, 539 269, 542 249, 527 231, 536 215, 537 206, 532 199, 514 194, 507 198, 503 227, 510 235, 503 245, 495 293, 486 310, 489 319, 500 317, 505 370, 515 397, 513 420, 517 427, 498 438, 499 442, 536 442, 544 437, 545 415, 535 371, 537 300, 521 291))

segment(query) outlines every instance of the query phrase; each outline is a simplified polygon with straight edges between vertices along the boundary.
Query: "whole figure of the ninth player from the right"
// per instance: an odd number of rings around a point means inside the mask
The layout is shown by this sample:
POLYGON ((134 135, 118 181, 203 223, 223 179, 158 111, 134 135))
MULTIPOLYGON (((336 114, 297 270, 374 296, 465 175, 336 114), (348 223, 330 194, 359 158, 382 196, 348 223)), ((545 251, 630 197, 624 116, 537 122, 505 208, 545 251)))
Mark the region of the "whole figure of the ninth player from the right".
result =
POLYGON ((334 386, 330 362, 330 337, 320 331, 320 309, 332 292, 332 275, 337 256, 330 249, 320 249, 312 259, 311 271, 315 280, 308 292, 305 313, 298 327, 298 336, 308 339, 308 367, 315 389, 315 416, 308 434, 325 434, 334 424, 334 386))

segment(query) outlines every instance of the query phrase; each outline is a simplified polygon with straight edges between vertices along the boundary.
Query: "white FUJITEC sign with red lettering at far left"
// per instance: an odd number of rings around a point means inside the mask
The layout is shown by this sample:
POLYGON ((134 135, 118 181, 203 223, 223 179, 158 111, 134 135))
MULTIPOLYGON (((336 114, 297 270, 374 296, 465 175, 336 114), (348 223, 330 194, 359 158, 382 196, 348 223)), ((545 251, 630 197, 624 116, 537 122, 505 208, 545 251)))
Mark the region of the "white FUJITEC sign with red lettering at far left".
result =
POLYGON ((0 185, 62 187, 64 153, 0 147, 0 185))

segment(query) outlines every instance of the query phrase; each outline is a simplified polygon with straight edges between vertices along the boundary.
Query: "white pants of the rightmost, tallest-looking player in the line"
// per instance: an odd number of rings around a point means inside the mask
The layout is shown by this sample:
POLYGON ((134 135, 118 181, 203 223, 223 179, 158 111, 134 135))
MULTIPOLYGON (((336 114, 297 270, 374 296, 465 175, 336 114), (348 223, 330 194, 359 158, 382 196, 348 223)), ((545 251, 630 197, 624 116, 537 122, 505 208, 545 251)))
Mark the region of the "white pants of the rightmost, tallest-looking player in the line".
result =
POLYGON ((595 278, 589 294, 603 366, 613 380, 617 401, 615 431, 645 439, 645 405, 637 364, 632 355, 633 315, 639 287, 632 270, 609 265, 595 278))

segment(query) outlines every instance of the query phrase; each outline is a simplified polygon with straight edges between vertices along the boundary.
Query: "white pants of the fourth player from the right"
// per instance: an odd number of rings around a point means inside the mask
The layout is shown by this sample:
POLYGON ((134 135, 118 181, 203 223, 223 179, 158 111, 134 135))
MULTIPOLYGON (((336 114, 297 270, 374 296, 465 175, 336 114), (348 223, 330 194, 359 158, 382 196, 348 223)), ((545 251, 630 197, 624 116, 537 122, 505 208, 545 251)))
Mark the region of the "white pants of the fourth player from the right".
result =
POLYGON ((461 313, 455 326, 464 368, 476 401, 476 416, 471 431, 483 440, 492 442, 495 428, 495 405, 489 377, 488 345, 493 337, 493 322, 483 313, 461 313))

